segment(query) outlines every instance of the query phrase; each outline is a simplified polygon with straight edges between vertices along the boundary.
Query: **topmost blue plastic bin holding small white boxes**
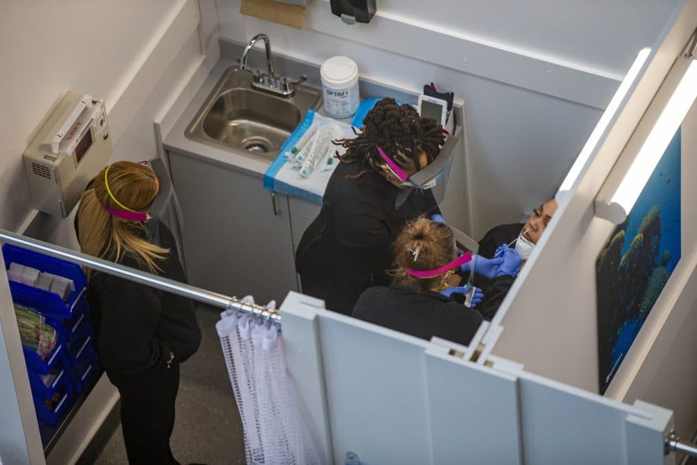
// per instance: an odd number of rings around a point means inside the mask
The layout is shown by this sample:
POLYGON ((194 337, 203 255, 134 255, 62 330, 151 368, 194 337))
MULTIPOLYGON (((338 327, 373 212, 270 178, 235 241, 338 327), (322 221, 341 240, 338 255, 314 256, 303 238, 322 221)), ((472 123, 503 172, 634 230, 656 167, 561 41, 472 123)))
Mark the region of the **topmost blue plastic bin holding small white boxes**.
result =
POLYGON ((57 319, 70 319, 77 314, 79 307, 87 305, 86 299, 82 300, 86 294, 87 279, 79 265, 31 250, 25 250, 11 244, 4 244, 2 252, 5 259, 5 268, 9 268, 11 263, 31 266, 31 268, 36 268, 45 273, 67 277, 75 283, 75 291, 72 291, 66 303, 55 292, 27 286, 21 282, 10 281, 12 300, 17 305, 31 307, 47 317, 57 319))

